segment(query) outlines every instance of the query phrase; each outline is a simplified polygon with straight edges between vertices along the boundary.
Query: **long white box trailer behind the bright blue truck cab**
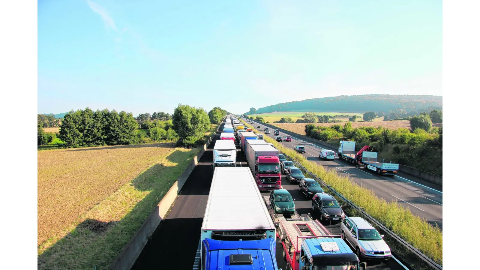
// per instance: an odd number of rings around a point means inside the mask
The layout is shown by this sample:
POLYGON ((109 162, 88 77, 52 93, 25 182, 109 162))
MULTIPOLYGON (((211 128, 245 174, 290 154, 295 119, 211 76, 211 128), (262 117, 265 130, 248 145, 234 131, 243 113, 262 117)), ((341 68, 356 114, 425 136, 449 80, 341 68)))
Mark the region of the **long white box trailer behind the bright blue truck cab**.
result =
POLYGON ((215 168, 202 223, 201 240, 275 237, 275 224, 250 168, 215 168))

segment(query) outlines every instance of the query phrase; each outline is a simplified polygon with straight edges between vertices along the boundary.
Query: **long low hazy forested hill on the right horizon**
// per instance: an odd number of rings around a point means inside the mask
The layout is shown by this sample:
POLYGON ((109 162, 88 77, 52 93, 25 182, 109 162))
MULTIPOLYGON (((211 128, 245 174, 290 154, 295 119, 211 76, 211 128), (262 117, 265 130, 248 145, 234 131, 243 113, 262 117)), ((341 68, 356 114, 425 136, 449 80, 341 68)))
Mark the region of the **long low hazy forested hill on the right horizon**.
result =
POLYGON ((265 113, 275 111, 313 111, 313 112, 364 112, 403 109, 407 112, 442 109, 441 96, 417 96, 417 95, 359 95, 338 96, 328 98, 312 98, 300 101, 280 103, 247 114, 265 113))

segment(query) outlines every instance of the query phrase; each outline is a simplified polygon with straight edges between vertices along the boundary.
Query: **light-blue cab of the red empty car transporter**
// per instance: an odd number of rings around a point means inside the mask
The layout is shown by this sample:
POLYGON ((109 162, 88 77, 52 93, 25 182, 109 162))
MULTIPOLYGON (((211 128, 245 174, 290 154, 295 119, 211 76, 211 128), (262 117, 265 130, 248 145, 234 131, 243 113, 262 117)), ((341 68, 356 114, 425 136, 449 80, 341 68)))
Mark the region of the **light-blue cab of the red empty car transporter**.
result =
POLYGON ((341 238, 309 238, 301 244, 298 270, 364 270, 365 262, 341 238))

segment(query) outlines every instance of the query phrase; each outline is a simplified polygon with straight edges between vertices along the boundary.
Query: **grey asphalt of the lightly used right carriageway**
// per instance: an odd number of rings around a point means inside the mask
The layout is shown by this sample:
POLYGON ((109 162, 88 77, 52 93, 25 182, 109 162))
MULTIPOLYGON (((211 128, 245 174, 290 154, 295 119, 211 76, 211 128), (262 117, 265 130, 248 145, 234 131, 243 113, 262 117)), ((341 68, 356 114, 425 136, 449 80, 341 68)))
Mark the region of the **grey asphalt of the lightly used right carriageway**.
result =
MULTIPOLYGON (((245 119, 242 119, 245 121, 245 119)), ((251 124, 260 132, 264 133, 265 125, 255 122, 251 124)), ((274 130, 269 128, 271 133, 274 130)), ((265 135, 268 136, 268 135, 265 135)), ((271 134, 272 138, 276 135, 271 134)), ((303 155, 307 160, 313 160, 316 163, 322 164, 327 170, 336 170, 341 175, 350 177, 355 183, 371 189, 375 194, 386 201, 398 201, 398 203, 425 219, 432 225, 437 225, 440 229, 443 224, 443 191, 442 186, 423 181, 419 178, 409 176, 407 174, 398 173, 396 176, 379 176, 373 171, 365 171, 360 166, 356 168, 347 161, 339 160, 321 160, 318 157, 319 152, 324 149, 310 142, 296 138, 288 133, 280 132, 280 136, 291 136, 291 142, 282 141, 281 143, 289 148, 301 145, 306 149, 303 155)), ((283 138, 285 139, 285 138, 283 138)), ((330 149, 338 152, 337 149, 330 149)))

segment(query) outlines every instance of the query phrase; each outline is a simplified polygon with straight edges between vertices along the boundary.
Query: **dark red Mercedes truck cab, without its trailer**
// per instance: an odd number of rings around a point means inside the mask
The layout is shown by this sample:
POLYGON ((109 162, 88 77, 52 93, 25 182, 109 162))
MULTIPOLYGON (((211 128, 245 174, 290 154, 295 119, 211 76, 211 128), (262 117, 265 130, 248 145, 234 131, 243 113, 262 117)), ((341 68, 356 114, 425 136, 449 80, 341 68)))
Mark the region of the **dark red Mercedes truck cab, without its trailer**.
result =
POLYGON ((280 189, 280 160, 277 156, 259 156, 255 164, 255 179, 259 190, 280 189))

